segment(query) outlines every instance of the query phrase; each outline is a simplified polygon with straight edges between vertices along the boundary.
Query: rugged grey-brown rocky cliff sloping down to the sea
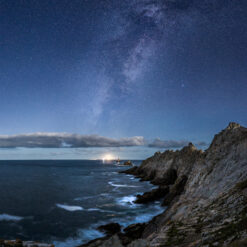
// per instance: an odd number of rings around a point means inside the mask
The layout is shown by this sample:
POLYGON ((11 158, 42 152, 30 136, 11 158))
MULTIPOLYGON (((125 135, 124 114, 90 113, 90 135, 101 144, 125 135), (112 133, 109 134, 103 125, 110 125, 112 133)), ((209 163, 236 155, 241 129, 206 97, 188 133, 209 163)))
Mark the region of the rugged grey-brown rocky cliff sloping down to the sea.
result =
POLYGON ((180 151, 157 152, 125 173, 159 186, 139 195, 137 203, 162 198, 166 210, 85 246, 247 246, 246 128, 230 123, 205 151, 190 143, 180 151))

